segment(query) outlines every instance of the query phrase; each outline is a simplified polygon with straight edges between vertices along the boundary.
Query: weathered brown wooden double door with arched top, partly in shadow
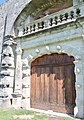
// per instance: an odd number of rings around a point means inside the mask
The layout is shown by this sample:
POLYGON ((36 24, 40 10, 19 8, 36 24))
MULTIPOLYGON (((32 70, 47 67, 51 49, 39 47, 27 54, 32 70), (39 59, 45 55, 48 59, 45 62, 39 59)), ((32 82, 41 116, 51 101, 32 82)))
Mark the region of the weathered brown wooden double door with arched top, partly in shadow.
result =
POLYGON ((31 107, 73 114, 75 107, 74 58, 50 54, 31 64, 31 107))

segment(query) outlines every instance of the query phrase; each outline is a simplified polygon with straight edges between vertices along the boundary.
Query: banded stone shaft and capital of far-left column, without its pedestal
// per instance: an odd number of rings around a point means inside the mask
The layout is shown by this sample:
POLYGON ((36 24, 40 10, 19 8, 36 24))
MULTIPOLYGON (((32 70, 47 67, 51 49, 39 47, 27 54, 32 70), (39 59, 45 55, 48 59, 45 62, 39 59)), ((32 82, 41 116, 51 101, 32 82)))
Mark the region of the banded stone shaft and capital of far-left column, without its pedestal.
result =
POLYGON ((3 40, 2 47, 2 66, 1 66, 1 82, 4 86, 4 91, 6 91, 7 95, 2 95, 4 98, 8 96, 8 94, 12 94, 13 91, 13 80, 14 80, 14 46, 15 42, 13 40, 13 36, 7 35, 3 40), (12 74, 10 74, 12 73, 12 74))

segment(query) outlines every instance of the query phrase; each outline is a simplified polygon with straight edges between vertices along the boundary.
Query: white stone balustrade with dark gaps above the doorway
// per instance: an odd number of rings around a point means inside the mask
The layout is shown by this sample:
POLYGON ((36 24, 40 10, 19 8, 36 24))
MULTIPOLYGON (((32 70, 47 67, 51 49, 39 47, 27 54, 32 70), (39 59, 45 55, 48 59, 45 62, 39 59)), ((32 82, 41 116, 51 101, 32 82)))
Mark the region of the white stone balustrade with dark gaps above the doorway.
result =
POLYGON ((75 21, 80 15, 81 10, 79 8, 77 8, 76 10, 65 12, 63 14, 54 13, 53 15, 46 15, 41 19, 32 21, 32 23, 24 25, 25 27, 21 26, 22 28, 19 28, 19 36, 32 34, 38 31, 75 21))

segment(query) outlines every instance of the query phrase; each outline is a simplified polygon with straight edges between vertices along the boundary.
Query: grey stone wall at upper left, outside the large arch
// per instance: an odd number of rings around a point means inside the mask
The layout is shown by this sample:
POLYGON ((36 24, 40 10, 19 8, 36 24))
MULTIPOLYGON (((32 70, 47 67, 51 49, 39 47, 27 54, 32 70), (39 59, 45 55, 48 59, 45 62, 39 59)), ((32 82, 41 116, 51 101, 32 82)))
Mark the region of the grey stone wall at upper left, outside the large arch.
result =
POLYGON ((23 8, 30 2, 31 0, 7 0, 5 4, 0 5, 0 61, 1 61, 1 51, 2 51, 2 41, 3 41, 3 32, 4 32, 4 24, 5 18, 7 15, 7 22, 5 28, 5 35, 13 35, 13 24, 23 10, 23 8))

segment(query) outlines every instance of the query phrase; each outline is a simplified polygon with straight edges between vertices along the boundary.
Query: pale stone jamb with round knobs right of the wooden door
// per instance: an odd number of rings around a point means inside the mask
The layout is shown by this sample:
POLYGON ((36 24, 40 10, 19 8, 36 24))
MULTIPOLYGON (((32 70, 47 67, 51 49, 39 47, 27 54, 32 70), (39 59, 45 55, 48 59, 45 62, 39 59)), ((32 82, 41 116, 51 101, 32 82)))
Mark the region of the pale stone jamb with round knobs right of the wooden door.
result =
POLYGON ((74 63, 76 74, 76 107, 74 108, 74 116, 84 118, 84 61, 76 60, 74 63))

